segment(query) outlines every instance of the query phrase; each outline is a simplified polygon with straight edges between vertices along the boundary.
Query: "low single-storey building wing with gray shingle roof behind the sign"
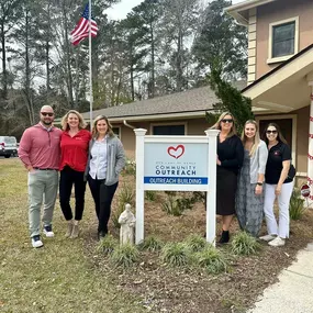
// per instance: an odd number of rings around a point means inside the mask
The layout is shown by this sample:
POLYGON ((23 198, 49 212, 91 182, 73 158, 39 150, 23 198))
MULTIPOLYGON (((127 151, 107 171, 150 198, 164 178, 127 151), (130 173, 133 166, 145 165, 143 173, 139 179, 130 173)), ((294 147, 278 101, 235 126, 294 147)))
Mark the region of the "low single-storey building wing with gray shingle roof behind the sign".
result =
MULTIPOLYGON (((236 81, 235 88, 242 90, 246 81, 236 81)), ((128 158, 135 156, 135 133, 133 128, 145 128, 147 135, 205 135, 210 126, 205 112, 213 110, 219 102, 214 91, 209 87, 189 89, 154 99, 135 101, 128 104, 96 110, 92 119, 98 115, 108 116, 123 143, 128 158)), ((82 113, 87 122, 89 112, 82 113)))

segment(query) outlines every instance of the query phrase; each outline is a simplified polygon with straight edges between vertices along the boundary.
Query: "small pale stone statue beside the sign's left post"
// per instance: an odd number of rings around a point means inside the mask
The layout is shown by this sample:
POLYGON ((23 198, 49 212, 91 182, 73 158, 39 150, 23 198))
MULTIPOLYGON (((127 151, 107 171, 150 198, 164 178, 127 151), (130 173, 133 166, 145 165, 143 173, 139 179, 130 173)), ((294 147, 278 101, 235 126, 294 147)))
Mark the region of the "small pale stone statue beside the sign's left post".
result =
POLYGON ((125 210, 119 217, 119 223, 121 224, 120 230, 120 244, 124 245, 126 243, 134 244, 135 236, 134 236, 134 228, 136 223, 136 217, 131 211, 131 204, 125 205, 125 210))

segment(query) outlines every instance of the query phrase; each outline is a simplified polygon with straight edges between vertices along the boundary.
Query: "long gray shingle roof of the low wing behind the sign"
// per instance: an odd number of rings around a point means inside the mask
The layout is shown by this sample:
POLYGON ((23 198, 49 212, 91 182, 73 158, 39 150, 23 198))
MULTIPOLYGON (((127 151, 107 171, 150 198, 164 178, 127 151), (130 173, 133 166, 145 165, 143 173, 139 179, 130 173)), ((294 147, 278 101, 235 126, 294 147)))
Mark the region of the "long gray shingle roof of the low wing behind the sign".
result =
MULTIPOLYGON (((244 89, 247 83, 238 80, 232 83, 238 90, 244 89)), ((212 110, 213 104, 219 102, 214 91, 209 87, 193 88, 168 96, 135 101, 132 103, 100 109, 92 112, 93 119, 105 115, 110 121, 142 121, 179 118, 199 118, 205 111, 212 110)), ((89 121, 89 112, 82 113, 83 119, 89 121)))

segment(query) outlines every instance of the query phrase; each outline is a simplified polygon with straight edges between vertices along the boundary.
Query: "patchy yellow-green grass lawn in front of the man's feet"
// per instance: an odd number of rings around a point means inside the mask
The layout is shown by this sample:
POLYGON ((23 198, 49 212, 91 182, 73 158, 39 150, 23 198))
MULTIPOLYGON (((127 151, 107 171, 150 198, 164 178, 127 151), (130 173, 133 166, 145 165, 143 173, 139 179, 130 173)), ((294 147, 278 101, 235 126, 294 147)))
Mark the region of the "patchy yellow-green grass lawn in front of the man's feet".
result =
POLYGON ((31 247, 26 171, 18 158, 0 159, 0 312, 144 312, 138 299, 118 290, 85 254, 96 230, 88 191, 82 237, 66 239, 57 203, 54 238, 31 247))

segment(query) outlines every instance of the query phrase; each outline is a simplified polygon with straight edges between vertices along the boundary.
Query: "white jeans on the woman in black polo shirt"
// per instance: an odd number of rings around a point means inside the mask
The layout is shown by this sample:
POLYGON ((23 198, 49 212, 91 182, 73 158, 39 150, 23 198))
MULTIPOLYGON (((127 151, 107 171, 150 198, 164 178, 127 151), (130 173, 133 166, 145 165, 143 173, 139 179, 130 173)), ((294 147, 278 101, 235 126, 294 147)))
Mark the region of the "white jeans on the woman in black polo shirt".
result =
POLYGON ((277 224, 273 215, 275 189, 277 185, 265 185, 264 213, 266 217, 267 232, 269 235, 278 235, 281 238, 289 237, 289 201, 293 189, 293 182, 282 183, 278 195, 279 222, 277 224))

